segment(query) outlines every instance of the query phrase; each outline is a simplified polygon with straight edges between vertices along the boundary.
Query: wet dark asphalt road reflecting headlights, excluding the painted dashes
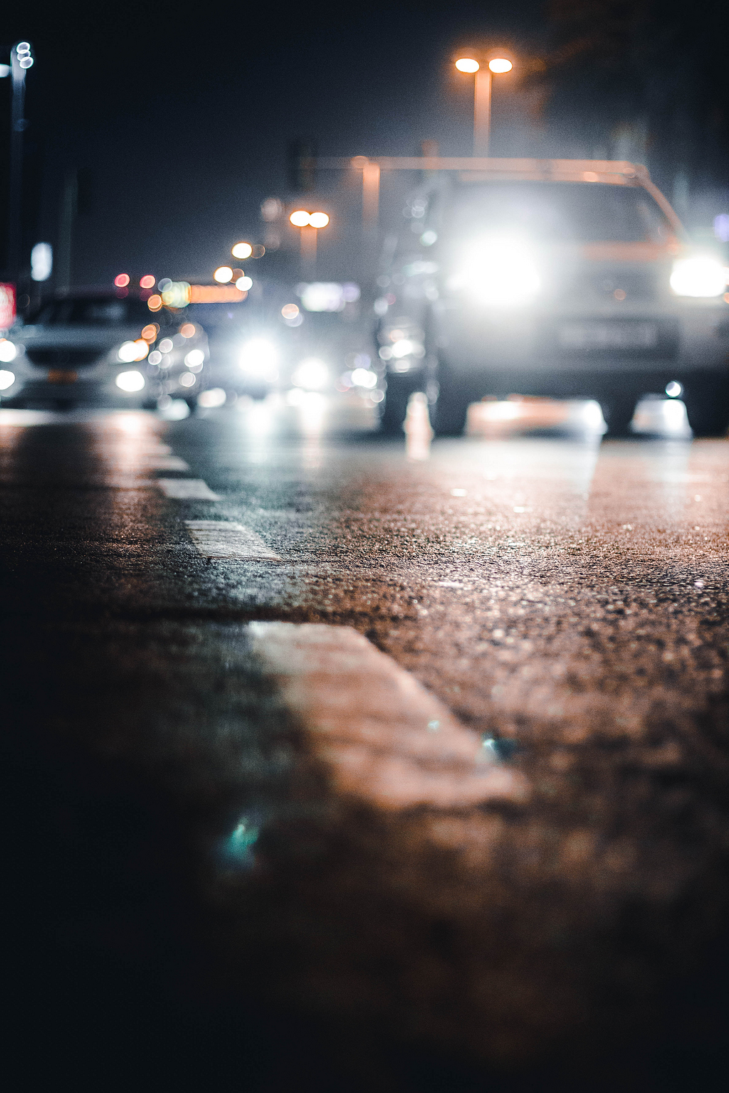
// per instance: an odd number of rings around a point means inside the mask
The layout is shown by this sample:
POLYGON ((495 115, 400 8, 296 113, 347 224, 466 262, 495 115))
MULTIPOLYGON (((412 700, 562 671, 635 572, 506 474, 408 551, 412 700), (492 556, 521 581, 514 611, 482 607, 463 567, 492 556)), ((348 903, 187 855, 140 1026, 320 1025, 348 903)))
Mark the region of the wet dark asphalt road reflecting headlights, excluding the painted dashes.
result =
POLYGON ((729 442, 409 461, 310 401, 0 411, 0 458, 17 1089, 722 1084, 729 442), (343 790, 256 621, 365 635, 524 794, 343 790))

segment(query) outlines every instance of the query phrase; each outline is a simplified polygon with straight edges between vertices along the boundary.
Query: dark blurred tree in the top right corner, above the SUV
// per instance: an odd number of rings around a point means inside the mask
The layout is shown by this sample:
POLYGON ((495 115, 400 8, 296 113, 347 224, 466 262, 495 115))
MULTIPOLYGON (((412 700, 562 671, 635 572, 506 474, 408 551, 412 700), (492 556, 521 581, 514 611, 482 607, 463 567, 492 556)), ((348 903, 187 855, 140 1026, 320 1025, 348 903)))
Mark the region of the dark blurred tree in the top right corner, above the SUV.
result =
POLYGON ((543 79, 558 130, 614 157, 643 152, 674 189, 681 178, 726 185, 726 0, 550 0, 546 14, 543 79))

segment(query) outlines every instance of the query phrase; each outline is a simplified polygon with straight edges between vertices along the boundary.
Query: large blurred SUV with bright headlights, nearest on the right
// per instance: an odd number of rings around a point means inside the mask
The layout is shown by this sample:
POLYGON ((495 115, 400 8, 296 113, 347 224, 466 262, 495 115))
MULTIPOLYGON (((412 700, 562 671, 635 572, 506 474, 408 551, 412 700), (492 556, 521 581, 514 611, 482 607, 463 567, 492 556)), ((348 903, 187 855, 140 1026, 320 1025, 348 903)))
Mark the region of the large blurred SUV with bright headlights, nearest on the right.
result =
POLYGON ((427 391, 436 431, 510 393, 596 399, 611 433, 644 393, 682 398, 695 434, 729 425, 729 295, 645 167, 491 160, 410 200, 378 284, 383 425, 427 391))

